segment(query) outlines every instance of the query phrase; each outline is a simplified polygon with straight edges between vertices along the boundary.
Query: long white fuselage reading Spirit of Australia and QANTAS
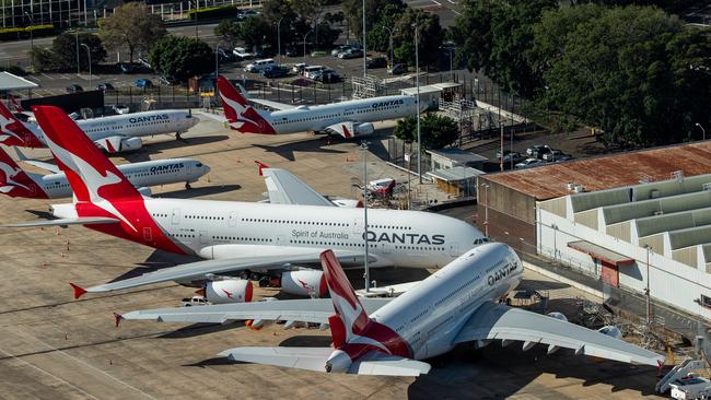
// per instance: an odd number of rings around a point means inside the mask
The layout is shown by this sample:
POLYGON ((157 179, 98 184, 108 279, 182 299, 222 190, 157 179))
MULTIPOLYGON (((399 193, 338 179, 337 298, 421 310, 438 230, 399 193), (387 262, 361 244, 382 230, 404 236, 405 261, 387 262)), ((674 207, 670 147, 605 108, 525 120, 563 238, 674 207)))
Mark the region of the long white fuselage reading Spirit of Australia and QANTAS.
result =
MULTIPOLYGON (((364 252, 362 209, 182 199, 142 201, 155 227, 143 224, 136 226, 136 232, 119 224, 88 227, 168 251, 177 246, 185 254, 207 259, 310 248, 364 252), (163 235, 168 246, 158 242, 163 235)), ((53 208, 56 216, 77 216, 72 204, 53 208)), ((485 242, 474 226, 435 213, 372 209, 368 220, 371 267, 438 268, 485 242)))

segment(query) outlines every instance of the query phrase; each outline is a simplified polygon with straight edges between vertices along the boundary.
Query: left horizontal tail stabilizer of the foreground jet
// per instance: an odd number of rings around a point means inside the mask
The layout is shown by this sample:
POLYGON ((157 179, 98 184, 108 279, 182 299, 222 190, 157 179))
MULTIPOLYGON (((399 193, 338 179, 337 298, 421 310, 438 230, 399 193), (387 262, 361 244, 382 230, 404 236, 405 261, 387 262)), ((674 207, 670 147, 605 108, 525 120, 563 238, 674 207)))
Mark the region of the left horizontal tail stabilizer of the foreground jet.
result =
POLYGON ((220 355, 230 361, 326 372, 331 348, 234 348, 220 355))

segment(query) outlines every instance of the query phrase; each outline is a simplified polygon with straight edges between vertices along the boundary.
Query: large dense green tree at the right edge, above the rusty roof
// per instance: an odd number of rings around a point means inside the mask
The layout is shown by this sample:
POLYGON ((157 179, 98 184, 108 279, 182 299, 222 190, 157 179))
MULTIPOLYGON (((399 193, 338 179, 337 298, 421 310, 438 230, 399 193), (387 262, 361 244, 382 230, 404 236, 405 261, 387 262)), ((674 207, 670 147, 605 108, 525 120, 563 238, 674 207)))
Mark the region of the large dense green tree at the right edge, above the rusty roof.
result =
POLYGON ((688 140, 709 126, 711 36, 655 8, 545 13, 535 27, 540 103, 601 127, 607 144, 688 140))

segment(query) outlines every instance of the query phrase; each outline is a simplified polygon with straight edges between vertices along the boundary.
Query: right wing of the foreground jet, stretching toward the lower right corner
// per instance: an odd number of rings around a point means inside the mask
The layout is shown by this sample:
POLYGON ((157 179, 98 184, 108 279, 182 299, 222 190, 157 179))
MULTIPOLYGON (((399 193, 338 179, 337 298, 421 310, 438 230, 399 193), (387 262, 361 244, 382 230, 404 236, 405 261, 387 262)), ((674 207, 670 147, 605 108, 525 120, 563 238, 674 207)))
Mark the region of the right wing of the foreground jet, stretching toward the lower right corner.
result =
POLYGON ((623 363, 658 366, 664 356, 604 333, 540 314, 503 304, 485 303, 464 325, 455 343, 474 340, 520 340, 523 349, 548 344, 548 353, 559 348, 623 363))

